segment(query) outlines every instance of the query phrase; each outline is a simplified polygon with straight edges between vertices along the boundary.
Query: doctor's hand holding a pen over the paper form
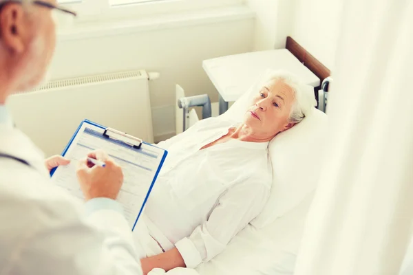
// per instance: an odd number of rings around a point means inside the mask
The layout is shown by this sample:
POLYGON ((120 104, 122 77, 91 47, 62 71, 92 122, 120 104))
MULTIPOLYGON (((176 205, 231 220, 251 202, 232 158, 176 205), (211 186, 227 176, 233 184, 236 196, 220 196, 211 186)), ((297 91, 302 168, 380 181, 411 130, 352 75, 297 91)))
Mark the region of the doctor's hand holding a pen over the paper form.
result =
POLYGON ((116 199, 123 184, 122 168, 104 151, 97 150, 87 157, 105 162, 105 167, 90 164, 87 158, 78 164, 76 174, 86 201, 98 197, 116 199))

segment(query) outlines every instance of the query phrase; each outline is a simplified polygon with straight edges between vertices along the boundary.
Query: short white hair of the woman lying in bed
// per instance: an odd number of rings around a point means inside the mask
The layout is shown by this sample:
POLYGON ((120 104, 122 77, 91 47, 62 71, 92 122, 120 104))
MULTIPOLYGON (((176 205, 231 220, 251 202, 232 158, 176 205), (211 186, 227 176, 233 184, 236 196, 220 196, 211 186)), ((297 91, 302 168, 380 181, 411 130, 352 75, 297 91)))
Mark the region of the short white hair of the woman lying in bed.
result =
POLYGON ((283 70, 273 71, 267 74, 264 83, 271 80, 282 80, 293 89, 294 102, 293 107, 291 107, 290 118, 288 118, 289 123, 301 122, 317 104, 313 87, 301 83, 294 74, 283 70))

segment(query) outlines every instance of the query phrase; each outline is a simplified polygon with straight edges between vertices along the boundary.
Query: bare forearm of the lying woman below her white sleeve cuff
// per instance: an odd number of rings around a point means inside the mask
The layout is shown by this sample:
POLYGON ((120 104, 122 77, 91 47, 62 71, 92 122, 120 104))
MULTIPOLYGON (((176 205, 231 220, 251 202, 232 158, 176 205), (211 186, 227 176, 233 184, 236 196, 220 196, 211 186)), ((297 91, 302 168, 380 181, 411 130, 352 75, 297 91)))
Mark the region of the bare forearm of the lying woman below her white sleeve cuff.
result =
POLYGON ((142 264, 144 275, 148 274, 155 267, 160 267, 165 271, 172 270, 175 267, 186 267, 184 259, 182 259, 177 248, 173 248, 172 250, 156 256, 142 259, 140 260, 140 263, 142 264))

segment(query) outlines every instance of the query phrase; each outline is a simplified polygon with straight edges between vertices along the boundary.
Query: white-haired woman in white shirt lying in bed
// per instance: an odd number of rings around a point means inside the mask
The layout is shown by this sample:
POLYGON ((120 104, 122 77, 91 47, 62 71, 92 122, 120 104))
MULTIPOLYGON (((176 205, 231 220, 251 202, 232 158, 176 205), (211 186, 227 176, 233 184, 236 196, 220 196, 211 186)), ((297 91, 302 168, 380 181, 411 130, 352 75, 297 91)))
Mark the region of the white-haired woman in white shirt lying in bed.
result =
POLYGON ((313 107, 300 86, 294 76, 273 74, 257 89, 243 122, 201 120, 158 144, 169 155, 144 221, 160 254, 141 260, 145 274, 213 259, 260 214, 272 182, 268 142, 313 107))

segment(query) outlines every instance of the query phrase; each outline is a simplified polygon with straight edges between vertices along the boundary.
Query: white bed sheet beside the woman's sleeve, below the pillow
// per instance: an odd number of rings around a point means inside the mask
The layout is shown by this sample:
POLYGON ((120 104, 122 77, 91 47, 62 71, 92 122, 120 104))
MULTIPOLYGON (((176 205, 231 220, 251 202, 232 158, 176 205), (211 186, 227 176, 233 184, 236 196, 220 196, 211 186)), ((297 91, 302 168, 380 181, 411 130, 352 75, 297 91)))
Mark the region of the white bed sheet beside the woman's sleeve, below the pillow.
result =
POLYGON ((293 274, 295 259, 313 193, 299 206, 258 230, 247 225, 226 250, 196 268, 200 275, 293 274))

